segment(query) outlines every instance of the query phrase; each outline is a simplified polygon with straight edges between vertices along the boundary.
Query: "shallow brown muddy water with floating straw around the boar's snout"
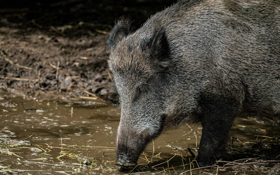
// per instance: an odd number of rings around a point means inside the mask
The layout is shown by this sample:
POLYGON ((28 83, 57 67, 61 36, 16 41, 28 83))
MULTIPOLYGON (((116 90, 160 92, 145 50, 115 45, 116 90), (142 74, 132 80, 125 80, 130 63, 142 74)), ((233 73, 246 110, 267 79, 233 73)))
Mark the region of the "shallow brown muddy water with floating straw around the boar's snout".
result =
MULTIPOLYGON (((114 167, 115 136, 120 109, 113 105, 25 100, 0 95, 0 119, 2 139, 20 141, 35 134, 21 142, 27 146, 6 147, 9 152, 2 149, 0 170, 4 174, 126 174, 131 171, 119 171, 120 167, 114 167)), ((233 160, 248 157, 275 159, 279 150, 273 150, 269 145, 275 144, 275 140, 265 140, 265 151, 254 149, 250 147, 253 144, 244 142, 279 135, 278 127, 256 121, 244 114, 236 118, 231 130, 231 136, 235 138, 226 154, 233 160), (267 154, 264 155, 264 152, 267 154)), ((196 147, 199 146, 200 137, 201 127, 186 126, 176 131, 164 131, 147 147, 138 161, 139 166, 132 173, 216 174, 215 167, 198 169, 196 162, 189 166, 192 158, 187 151, 188 147, 197 154, 196 147), (166 160, 169 160, 168 163, 166 160)), ((227 168, 219 169, 218 174, 258 174, 257 171, 268 174, 270 168, 227 168)))

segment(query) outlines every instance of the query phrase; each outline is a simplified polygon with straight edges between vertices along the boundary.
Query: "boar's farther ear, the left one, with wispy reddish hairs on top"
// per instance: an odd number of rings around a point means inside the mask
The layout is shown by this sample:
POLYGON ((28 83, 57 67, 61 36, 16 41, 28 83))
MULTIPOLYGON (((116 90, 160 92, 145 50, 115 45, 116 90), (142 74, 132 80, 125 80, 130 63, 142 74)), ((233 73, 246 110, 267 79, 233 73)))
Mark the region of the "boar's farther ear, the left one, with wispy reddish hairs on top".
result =
POLYGON ((120 20, 113 27, 109 39, 107 41, 109 49, 112 50, 116 47, 117 43, 124 39, 129 34, 130 21, 120 20))

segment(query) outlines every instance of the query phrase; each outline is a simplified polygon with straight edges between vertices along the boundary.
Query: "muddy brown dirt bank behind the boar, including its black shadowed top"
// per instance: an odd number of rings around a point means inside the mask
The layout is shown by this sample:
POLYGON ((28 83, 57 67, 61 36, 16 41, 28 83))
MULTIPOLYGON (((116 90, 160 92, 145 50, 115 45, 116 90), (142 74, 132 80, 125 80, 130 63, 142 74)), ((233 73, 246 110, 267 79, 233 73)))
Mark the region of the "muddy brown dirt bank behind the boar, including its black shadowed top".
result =
POLYGON ((93 93, 117 103, 106 62, 106 40, 114 21, 122 15, 130 16, 136 30, 149 16, 174 2, 2 2, 0 92, 78 100, 93 93))

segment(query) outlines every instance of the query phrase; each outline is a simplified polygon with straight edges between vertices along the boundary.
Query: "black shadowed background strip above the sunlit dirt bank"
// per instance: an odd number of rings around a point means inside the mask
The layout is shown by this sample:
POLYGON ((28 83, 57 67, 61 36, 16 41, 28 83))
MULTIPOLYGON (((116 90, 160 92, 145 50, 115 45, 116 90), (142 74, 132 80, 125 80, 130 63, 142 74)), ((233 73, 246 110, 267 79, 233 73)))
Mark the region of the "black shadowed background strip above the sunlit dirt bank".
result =
POLYGON ((175 2, 176 0, 2 1, 0 18, 21 23, 21 27, 39 27, 43 30, 48 30, 50 25, 78 25, 79 22, 84 22, 88 27, 104 24, 96 27, 109 31, 114 21, 125 15, 134 21, 133 30, 136 30, 149 16, 175 2))

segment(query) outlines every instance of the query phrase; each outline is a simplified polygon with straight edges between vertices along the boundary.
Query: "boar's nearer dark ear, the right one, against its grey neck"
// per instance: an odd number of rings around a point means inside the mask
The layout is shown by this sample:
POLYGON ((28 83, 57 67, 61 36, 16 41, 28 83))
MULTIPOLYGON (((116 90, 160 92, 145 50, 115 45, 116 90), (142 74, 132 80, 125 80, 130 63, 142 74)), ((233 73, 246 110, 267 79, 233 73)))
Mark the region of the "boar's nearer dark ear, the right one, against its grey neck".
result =
POLYGON ((162 26, 156 27, 152 37, 147 42, 147 47, 150 50, 152 59, 156 59, 161 67, 167 67, 169 65, 169 47, 165 29, 162 26))

